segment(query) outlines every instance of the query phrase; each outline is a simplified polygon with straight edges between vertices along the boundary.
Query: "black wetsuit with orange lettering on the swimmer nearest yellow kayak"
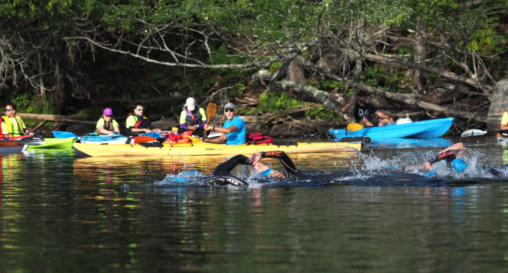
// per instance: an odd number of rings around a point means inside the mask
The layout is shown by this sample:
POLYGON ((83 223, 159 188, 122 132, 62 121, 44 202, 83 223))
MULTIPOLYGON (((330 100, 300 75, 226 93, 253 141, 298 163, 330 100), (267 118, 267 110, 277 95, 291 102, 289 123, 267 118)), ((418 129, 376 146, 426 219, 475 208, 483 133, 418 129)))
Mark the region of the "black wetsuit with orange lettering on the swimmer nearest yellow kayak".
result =
MULTIPOLYGON (((262 152, 261 158, 264 157, 280 159, 282 166, 284 166, 284 172, 286 174, 285 177, 305 177, 302 173, 298 172, 291 158, 289 158, 289 156, 283 151, 262 152)), ((244 155, 235 155, 228 161, 218 164, 212 173, 213 177, 205 178, 201 181, 215 186, 224 186, 227 184, 248 186, 247 182, 231 175, 231 170, 233 170, 238 164, 251 165, 248 157, 244 155)))

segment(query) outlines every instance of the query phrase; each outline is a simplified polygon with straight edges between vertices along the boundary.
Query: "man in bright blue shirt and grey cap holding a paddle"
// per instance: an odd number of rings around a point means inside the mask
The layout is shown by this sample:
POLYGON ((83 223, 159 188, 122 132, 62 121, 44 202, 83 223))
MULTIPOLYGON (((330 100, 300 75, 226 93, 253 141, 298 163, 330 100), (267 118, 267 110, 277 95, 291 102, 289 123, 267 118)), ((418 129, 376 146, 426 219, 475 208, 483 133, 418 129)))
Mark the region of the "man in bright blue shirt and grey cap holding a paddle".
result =
POLYGON ((236 116, 237 110, 234 104, 227 103, 224 106, 224 114, 228 119, 224 123, 224 127, 212 126, 205 124, 205 130, 213 130, 220 132, 220 137, 213 140, 205 140, 205 142, 228 145, 245 144, 245 122, 236 116))

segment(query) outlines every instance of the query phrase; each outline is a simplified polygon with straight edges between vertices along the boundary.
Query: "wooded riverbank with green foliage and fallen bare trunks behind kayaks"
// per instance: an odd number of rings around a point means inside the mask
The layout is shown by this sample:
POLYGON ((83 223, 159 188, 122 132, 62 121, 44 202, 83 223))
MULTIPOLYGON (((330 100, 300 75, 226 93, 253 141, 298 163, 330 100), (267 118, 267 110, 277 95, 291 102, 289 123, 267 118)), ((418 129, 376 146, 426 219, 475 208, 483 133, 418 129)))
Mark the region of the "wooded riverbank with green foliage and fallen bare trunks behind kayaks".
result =
POLYGON ((364 90, 395 118, 451 116, 460 133, 486 127, 493 90, 508 78, 507 6, 0 0, 0 101, 67 118, 24 118, 28 127, 79 133, 105 107, 121 123, 138 101, 171 128, 193 96, 203 108, 233 102, 248 131, 277 137, 344 127, 352 112, 340 108, 364 90))

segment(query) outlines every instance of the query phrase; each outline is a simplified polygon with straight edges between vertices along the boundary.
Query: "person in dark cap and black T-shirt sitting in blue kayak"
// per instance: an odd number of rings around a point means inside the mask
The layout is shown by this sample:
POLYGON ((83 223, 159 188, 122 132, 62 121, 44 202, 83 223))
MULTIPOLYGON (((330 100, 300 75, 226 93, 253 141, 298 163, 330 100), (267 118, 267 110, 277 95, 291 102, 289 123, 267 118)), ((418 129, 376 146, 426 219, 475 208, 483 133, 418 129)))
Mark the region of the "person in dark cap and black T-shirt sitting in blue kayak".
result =
MULTIPOLYGON (((359 91, 356 95, 356 106, 354 110, 355 119, 358 123, 363 126, 375 126, 371 120, 375 116, 381 118, 377 123, 377 126, 385 126, 389 123, 394 122, 393 118, 389 115, 377 110, 373 105, 368 104, 367 101, 367 93, 365 91, 359 91)), ((344 107, 340 109, 342 113, 347 112, 347 109, 350 108, 351 103, 346 104, 344 107)))

